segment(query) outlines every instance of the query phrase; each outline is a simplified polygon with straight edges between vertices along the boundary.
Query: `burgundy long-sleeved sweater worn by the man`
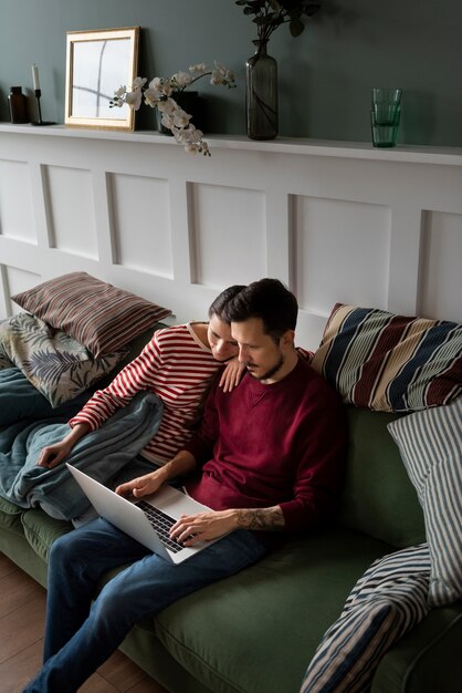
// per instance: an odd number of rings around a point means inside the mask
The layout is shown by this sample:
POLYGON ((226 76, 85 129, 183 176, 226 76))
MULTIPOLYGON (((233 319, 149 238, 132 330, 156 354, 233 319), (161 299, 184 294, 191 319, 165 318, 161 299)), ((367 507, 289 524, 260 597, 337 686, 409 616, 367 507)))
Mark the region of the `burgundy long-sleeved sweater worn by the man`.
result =
POLYGON ((337 504, 346 432, 338 395, 303 359, 270 385, 245 374, 210 394, 186 445, 202 467, 187 490, 214 510, 280 505, 286 530, 313 529, 337 504))

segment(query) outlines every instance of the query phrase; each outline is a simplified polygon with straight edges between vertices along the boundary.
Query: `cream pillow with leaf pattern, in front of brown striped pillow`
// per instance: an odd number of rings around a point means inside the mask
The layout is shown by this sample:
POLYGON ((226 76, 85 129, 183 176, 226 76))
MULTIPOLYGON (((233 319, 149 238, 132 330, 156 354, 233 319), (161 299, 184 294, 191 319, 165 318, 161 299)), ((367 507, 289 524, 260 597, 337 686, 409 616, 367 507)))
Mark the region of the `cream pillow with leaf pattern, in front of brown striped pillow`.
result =
POLYGON ((0 368, 19 368, 53 407, 88 390, 126 353, 124 348, 94 359, 72 337, 29 313, 0 323, 0 368))

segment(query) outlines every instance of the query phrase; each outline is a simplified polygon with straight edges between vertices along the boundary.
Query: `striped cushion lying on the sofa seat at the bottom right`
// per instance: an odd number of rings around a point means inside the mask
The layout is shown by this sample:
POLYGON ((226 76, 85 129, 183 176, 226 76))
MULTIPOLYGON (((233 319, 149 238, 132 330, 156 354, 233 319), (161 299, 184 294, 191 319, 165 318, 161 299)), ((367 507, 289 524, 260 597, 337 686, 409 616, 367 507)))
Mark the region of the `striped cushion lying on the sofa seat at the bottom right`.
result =
POLYGON ((325 633, 301 693, 361 693, 393 642, 428 613, 430 558, 427 544, 375 561, 325 633))

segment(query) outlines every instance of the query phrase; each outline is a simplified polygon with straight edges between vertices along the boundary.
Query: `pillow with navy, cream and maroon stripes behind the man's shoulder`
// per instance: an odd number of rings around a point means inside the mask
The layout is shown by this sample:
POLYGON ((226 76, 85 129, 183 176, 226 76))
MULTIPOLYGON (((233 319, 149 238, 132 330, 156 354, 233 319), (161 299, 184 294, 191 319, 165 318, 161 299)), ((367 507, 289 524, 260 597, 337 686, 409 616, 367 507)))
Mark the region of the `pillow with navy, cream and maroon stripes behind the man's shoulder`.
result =
POLYGON ((336 303, 312 365, 355 406, 449 404, 462 394, 462 325, 336 303))

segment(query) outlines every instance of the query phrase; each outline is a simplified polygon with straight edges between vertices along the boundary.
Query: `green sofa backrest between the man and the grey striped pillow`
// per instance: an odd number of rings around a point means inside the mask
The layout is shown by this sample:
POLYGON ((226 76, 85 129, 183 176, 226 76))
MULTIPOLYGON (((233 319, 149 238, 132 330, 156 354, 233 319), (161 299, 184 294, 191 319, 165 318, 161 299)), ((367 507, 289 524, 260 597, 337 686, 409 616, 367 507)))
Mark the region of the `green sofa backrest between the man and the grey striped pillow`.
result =
POLYGON ((426 541, 423 513, 387 424, 397 414, 348 406, 340 524, 397 548, 426 541))

